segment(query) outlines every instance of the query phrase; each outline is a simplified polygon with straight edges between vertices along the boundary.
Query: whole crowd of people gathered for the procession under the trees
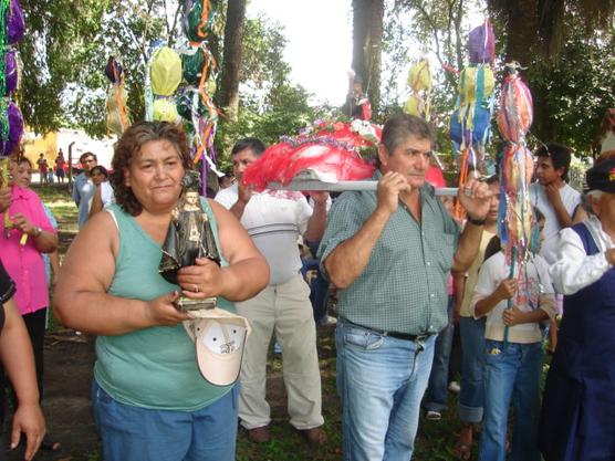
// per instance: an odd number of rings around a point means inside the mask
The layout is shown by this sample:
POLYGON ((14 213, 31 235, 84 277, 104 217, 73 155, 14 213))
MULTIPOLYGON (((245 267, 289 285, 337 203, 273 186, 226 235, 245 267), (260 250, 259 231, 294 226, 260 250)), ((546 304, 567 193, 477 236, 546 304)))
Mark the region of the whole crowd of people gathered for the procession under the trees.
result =
MULTIPOLYGON (((170 281, 161 275, 161 250, 191 193, 179 127, 134 124, 115 147, 111 172, 95 154, 81 156, 72 189, 80 232, 61 269, 56 223, 30 188, 33 165, 13 156, 12 182, 0 187, 10 447, 23 432, 27 459, 39 446, 60 449, 40 408, 51 287, 62 324, 96 336, 92 406, 107 461, 233 460, 239 427, 253 443, 270 441, 273 338, 290 423, 308 442, 326 443, 316 348, 323 324, 336 325, 345 460, 411 459, 420 413, 437 421, 448 408, 456 328, 461 430, 451 444, 459 459, 471 459, 478 433, 481 461, 615 459, 615 151, 595 161, 581 193, 567 184, 570 149, 536 149, 529 187, 535 238, 514 264, 498 238, 498 176, 470 175, 455 199, 461 219, 452 199, 426 181, 434 142, 424 119, 393 116, 377 146, 377 190, 344 192, 332 203, 326 192, 253 191, 242 175, 265 146, 239 139, 231 153, 237 180, 229 175, 215 196, 190 197, 217 256, 197 251, 170 281), (304 276, 299 237, 313 249, 321 285, 304 276), (212 298, 213 319, 179 302, 212 298), (247 337, 234 321, 230 331, 223 326, 229 318, 247 319, 247 337), (8 354, 7 344, 19 354, 8 354), (541 395, 545 348, 554 355, 541 395), (227 373, 237 357, 239 377, 227 373), (207 367, 228 379, 212 380, 207 367)), ((204 250, 202 235, 187 226, 185 238, 204 250)), ((1 379, 3 390, 3 373, 1 379)))

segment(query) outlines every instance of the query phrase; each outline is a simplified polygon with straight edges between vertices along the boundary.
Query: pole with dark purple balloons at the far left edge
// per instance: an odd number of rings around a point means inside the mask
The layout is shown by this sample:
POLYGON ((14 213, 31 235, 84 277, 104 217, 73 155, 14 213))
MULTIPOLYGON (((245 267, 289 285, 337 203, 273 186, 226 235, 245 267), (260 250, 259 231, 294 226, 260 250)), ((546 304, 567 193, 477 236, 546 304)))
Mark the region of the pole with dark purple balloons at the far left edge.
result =
MULTIPOLYGON (((14 48, 25 34, 23 12, 18 0, 0 0, 0 169, 1 187, 9 184, 9 156, 19 147, 23 135, 23 117, 15 99, 19 88, 19 59, 14 48)), ((4 211, 4 232, 12 228, 8 210, 4 211)), ((28 234, 20 243, 25 244, 28 234)))

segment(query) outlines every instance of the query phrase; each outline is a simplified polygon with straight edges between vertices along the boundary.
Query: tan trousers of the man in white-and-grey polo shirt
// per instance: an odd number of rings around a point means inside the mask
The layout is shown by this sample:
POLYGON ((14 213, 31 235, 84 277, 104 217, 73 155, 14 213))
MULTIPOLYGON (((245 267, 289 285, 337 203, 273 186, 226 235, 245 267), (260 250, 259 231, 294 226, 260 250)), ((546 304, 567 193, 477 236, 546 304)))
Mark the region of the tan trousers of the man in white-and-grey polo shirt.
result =
POLYGON ((247 317, 252 327, 243 349, 239 397, 239 418, 247 429, 271 421, 264 396, 267 353, 273 332, 282 346, 291 425, 312 429, 324 422, 316 327, 309 296, 310 287, 298 274, 281 285, 267 286, 249 301, 236 303, 238 314, 247 317))

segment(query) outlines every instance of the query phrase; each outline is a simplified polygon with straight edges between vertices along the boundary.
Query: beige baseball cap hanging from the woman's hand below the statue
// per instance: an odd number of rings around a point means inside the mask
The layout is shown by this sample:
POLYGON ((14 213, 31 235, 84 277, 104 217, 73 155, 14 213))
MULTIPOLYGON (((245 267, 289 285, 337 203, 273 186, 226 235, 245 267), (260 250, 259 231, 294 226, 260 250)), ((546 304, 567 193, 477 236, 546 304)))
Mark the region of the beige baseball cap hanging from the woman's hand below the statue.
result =
POLYGON ((246 338, 250 334, 248 321, 219 307, 190 311, 184 327, 195 342, 197 364, 202 377, 216 386, 237 381, 246 338))

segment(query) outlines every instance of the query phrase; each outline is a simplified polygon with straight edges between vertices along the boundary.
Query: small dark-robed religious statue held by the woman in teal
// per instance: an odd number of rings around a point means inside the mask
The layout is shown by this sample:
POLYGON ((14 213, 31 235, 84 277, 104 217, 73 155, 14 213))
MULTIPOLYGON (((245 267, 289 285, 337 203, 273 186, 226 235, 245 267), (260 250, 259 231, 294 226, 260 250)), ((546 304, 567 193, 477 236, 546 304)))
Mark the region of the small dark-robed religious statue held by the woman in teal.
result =
MULTIPOLYGON (((195 265, 197 258, 209 258, 220 264, 220 252, 213 238, 209 216, 199 200, 200 177, 187 171, 181 179, 183 191, 177 207, 171 211, 167 237, 160 251, 163 258, 158 272, 169 283, 177 284, 177 271, 195 265)), ((216 297, 191 300, 180 296, 176 306, 180 311, 216 307, 216 297)))

